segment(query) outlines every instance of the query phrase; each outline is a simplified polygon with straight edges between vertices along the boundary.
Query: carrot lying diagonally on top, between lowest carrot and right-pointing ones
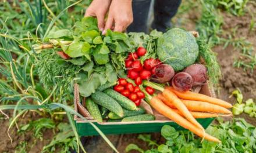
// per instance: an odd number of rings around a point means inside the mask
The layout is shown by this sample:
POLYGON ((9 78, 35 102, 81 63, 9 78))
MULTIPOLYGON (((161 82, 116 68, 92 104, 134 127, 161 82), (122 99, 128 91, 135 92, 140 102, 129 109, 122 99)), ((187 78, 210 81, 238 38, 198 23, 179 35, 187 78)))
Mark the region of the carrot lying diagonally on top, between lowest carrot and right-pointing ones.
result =
POLYGON ((173 93, 170 90, 163 90, 163 96, 173 105, 175 105, 175 107, 177 108, 177 110, 179 110, 180 112, 182 112, 182 114, 187 118, 187 120, 189 120, 191 123, 193 123, 194 125, 196 125, 198 128, 204 129, 202 128, 202 126, 200 125, 200 123, 197 122, 197 120, 195 120, 195 118, 193 117, 193 115, 189 112, 189 110, 187 110, 186 105, 184 105, 182 103, 182 101, 176 96, 175 93, 173 93))

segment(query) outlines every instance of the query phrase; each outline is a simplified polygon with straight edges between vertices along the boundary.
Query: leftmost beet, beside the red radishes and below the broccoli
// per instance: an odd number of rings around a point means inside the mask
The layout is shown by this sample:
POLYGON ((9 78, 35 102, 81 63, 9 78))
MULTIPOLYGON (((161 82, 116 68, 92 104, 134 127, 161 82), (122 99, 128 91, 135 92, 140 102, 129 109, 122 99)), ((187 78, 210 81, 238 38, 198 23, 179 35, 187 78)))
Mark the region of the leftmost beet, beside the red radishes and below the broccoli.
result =
POLYGON ((168 64, 157 65, 155 69, 155 75, 151 78, 151 80, 158 83, 166 83, 170 81, 170 79, 172 79, 174 74, 175 74, 175 71, 173 70, 171 65, 168 65, 168 64))

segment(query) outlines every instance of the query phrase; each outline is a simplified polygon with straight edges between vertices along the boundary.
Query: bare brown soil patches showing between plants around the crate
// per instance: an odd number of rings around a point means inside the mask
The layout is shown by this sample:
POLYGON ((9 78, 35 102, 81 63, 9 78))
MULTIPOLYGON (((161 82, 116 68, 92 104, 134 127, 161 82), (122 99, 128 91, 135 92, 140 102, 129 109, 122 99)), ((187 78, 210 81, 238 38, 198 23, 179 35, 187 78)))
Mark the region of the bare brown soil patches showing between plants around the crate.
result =
MULTIPOLYGON (((254 9, 255 13, 255 9, 254 9)), ((246 37, 248 41, 254 44, 256 49, 256 33, 249 34, 248 27, 250 26, 251 15, 246 14, 242 17, 234 17, 227 13, 222 13, 224 17, 223 28, 225 31, 231 31, 232 28, 237 27, 239 31, 239 37, 246 37)), ((194 30, 195 29, 195 20, 199 16, 194 13, 194 10, 191 10, 189 13, 184 14, 183 21, 186 21, 186 29, 194 30)), ((223 37, 226 37, 223 35, 223 37)), ((221 65, 222 79, 219 84, 218 90, 216 93, 218 97, 223 100, 230 101, 230 103, 235 103, 235 99, 229 98, 230 93, 239 88, 244 95, 244 99, 256 98, 256 71, 251 73, 250 71, 243 71, 242 68, 234 68, 233 62, 239 57, 239 50, 234 49, 232 46, 227 46, 226 49, 223 49, 223 45, 215 46, 213 50, 218 53, 218 61, 221 65)), ((255 54, 255 50, 254 50, 255 54)), ((27 116, 30 118, 31 116, 27 116)), ((250 118, 246 114, 241 114, 239 117, 245 118, 249 123, 252 123, 256 126, 256 121, 253 118, 250 118)), ((22 122, 27 122, 26 119, 22 122)), ((0 119, 0 152, 15 152, 15 147, 22 141, 27 141, 30 144, 29 152, 41 152, 42 147, 51 141, 53 137, 52 130, 45 130, 42 141, 33 142, 33 134, 22 133, 16 134, 16 128, 10 130, 10 135, 13 139, 13 143, 10 143, 10 139, 7 135, 9 120, 0 119)), ((158 143, 163 141, 159 133, 152 133, 152 138, 158 143)), ((121 135, 109 135, 109 140, 116 146, 120 152, 125 152, 125 148, 128 144, 134 143, 138 144, 141 148, 147 149, 147 144, 144 141, 137 139, 138 134, 121 134, 121 135)), ((110 153, 113 150, 105 143, 105 141, 100 136, 94 137, 83 137, 82 142, 87 152, 89 153, 98 153, 106 152, 110 153)), ((28 145, 29 146, 29 145, 28 145)))

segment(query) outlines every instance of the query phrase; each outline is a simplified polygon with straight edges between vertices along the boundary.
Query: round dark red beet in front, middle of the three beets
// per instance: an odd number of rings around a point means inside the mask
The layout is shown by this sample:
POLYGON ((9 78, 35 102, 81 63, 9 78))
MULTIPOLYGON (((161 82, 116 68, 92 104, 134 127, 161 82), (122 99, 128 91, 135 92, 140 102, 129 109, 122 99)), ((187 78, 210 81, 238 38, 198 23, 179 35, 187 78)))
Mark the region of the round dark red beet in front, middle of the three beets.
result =
POLYGON ((172 78, 172 86, 180 92, 189 91, 193 86, 193 78, 187 72, 179 72, 172 78))

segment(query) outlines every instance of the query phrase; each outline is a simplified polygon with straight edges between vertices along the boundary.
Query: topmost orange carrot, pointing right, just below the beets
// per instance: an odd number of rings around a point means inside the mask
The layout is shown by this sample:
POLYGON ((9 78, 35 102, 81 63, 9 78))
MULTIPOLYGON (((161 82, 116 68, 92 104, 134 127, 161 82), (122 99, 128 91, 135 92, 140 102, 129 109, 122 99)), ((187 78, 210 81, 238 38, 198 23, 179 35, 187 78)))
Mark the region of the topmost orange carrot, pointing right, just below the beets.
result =
POLYGON ((168 87, 167 89, 174 92, 181 99, 205 101, 205 102, 212 103, 215 105, 220 105, 225 108, 232 108, 232 104, 229 104, 226 101, 221 100, 221 99, 215 99, 214 97, 206 96, 205 94, 195 93, 195 92, 190 92, 190 91, 179 92, 179 91, 173 89, 172 87, 168 87))

